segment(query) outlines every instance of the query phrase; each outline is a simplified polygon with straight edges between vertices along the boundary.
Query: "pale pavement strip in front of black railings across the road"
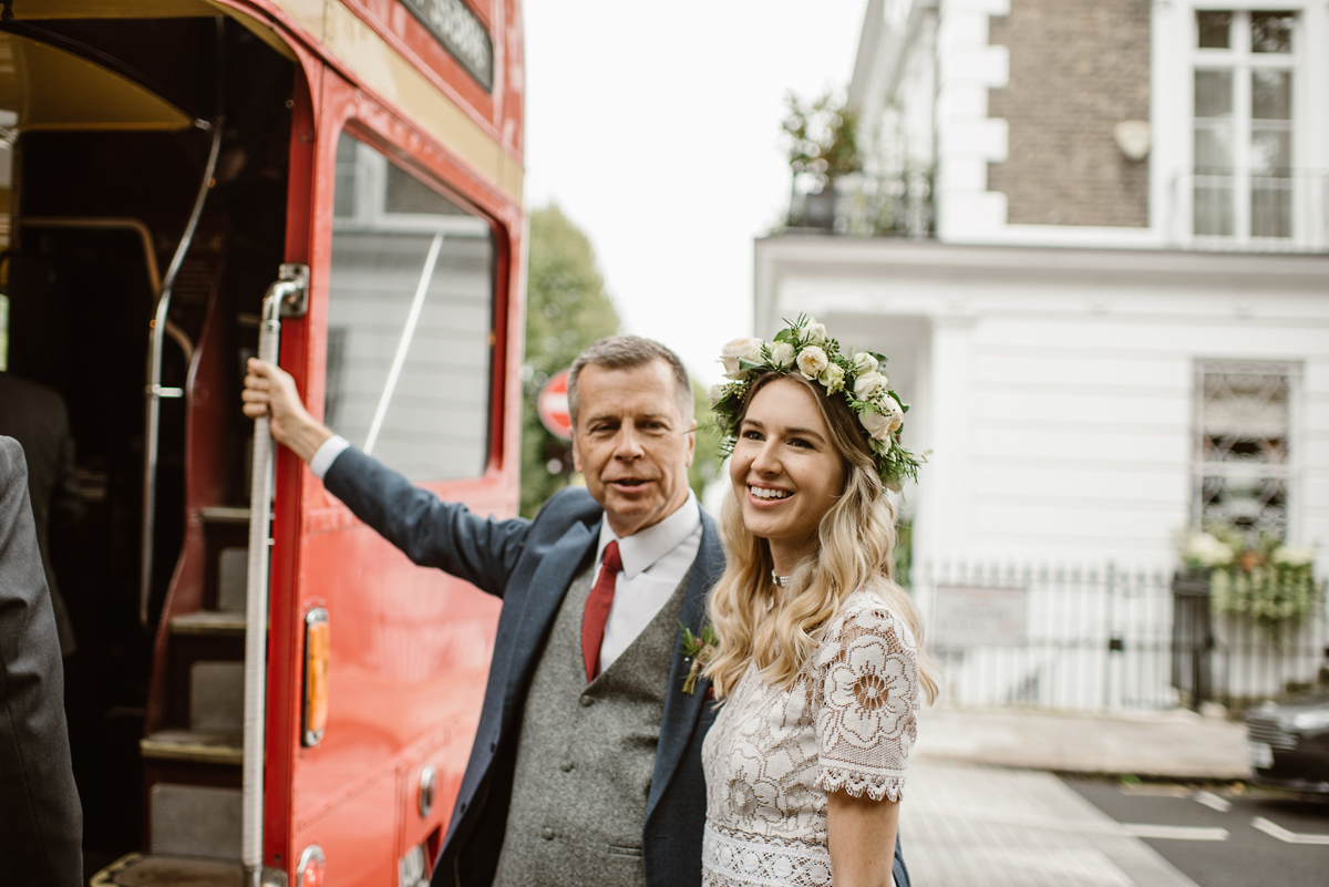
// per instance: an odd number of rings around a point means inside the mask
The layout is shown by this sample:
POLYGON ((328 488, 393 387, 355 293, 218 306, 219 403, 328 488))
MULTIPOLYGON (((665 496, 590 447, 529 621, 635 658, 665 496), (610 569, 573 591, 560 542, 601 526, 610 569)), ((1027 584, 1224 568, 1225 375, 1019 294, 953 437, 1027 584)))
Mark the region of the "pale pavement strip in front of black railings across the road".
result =
POLYGON ((913 760, 1162 779, 1243 779, 1245 726, 1185 709, 1079 714, 925 708, 913 760))

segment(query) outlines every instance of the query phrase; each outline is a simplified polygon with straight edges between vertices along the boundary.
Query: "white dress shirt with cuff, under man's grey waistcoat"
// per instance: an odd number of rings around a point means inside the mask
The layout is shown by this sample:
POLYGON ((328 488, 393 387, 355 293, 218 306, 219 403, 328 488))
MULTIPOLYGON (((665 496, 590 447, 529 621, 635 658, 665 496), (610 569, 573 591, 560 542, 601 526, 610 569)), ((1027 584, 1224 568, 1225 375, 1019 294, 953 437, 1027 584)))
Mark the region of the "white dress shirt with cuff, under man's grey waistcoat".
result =
MULTIPOLYGON (((350 441, 340 434, 326 440, 310 459, 314 477, 322 481, 336 457, 348 446, 350 441)), ((597 576, 605 546, 614 540, 618 542, 623 570, 614 584, 614 603, 609 608, 605 639, 599 644, 601 671, 609 668, 637 640, 692 568, 702 547, 702 509, 696 497, 688 491, 687 502, 674 514, 630 536, 619 536, 610 528, 609 521, 602 521, 599 544, 595 547, 597 576)))

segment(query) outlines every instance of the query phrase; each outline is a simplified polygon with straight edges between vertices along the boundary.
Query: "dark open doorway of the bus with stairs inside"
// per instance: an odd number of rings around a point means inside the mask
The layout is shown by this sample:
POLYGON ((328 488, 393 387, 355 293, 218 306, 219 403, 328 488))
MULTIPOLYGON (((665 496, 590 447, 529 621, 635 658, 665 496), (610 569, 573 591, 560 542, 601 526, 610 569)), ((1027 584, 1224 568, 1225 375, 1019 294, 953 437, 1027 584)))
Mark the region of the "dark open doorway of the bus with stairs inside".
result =
POLYGON ((5 369, 64 400, 82 499, 52 528, 52 559, 77 641, 66 709, 88 874, 138 848, 239 856, 253 424, 237 404, 284 260, 298 72, 214 8, 177 5, 190 15, 27 3, 0 24, 20 61, 0 73, 5 369), (191 219, 161 315, 150 445, 155 308, 191 219))

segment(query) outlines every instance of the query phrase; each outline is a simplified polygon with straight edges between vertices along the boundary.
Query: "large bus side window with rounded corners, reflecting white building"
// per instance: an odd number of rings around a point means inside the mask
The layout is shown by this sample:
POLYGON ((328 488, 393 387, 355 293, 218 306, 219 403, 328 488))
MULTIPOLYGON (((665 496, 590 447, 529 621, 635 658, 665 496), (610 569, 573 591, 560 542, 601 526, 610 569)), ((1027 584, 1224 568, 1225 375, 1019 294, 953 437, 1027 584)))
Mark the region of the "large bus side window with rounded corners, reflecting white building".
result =
POLYGON ((343 133, 324 421, 412 481, 488 462, 493 263, 484 219, 343 133))

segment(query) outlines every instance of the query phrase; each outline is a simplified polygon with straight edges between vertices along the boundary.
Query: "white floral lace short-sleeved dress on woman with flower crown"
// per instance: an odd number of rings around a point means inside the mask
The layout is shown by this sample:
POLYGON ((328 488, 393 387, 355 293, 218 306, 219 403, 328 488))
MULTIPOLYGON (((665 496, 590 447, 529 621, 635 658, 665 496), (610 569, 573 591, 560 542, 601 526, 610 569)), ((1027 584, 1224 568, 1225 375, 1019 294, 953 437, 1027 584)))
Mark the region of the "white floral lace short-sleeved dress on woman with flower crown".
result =
POLYGON ((825 625, 792 689, 750 665, 702 746, 702 883, 831 884, 827 793, 898 801, 917 710, 913 633, 870 588, 825 625))

